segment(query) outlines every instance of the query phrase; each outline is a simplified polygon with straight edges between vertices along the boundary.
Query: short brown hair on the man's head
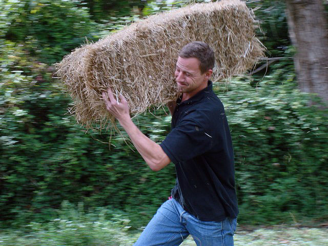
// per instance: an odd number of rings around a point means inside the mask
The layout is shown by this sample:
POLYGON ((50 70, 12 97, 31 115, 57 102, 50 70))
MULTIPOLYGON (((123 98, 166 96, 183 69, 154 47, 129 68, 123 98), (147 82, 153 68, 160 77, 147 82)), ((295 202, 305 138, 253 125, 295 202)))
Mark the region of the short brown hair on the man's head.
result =
POLYGON ((199 69, 201 74, 214 68, 215 55, 212 48, 203 42, 192 42, 182 47, 179 52, 181 58, 197 58, 200 61, 199 69))

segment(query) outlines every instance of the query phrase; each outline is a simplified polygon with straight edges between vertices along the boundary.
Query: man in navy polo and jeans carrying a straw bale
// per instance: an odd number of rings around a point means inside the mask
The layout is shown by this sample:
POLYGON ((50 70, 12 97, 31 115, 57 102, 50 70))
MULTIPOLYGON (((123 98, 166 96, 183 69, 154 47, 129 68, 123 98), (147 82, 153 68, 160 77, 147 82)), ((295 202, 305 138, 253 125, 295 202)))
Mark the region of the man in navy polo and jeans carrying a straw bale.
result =
POLYGON ((160 145, 133 124, 124 97, 118 103, 110 89, 103 93, 107 109, 153 171, 175 164, 172 198, 157 210, 137 246, 176 246, 188 235, 197 245, 233 245, 238 214, 234 156, 227 117, 209 80, 214 62, 205 43, 181 49, 175 70, 181 96, 168 104, 172 131, 160 145))

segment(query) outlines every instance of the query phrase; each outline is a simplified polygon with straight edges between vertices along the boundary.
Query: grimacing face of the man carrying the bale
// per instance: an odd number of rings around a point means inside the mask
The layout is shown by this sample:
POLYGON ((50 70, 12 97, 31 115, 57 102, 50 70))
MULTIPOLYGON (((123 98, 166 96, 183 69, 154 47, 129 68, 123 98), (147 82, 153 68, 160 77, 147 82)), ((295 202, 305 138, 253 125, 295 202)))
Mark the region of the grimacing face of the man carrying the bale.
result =
POLYGON ((178 57, 174 74, 180 92, 194 95, 207 87, 208 74, 201 74, 199 64, 200 61, 197 58, 178 57))

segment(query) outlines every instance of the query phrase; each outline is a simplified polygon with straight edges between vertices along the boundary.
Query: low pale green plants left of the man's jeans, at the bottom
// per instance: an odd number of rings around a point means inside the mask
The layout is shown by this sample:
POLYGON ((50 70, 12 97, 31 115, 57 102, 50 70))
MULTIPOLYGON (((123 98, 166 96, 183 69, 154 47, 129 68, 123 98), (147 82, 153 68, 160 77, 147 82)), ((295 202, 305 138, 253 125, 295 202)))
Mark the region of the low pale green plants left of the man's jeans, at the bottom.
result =
POLYGON ((0 236, 0 245, 132 245, 135 237, 127 234, 129 219, 108 209, 84 212, 67 201, 48 223, 28 223, 24 231, 8 231, 0 236), (4 244, 2 244, 4 243, 4 244))

